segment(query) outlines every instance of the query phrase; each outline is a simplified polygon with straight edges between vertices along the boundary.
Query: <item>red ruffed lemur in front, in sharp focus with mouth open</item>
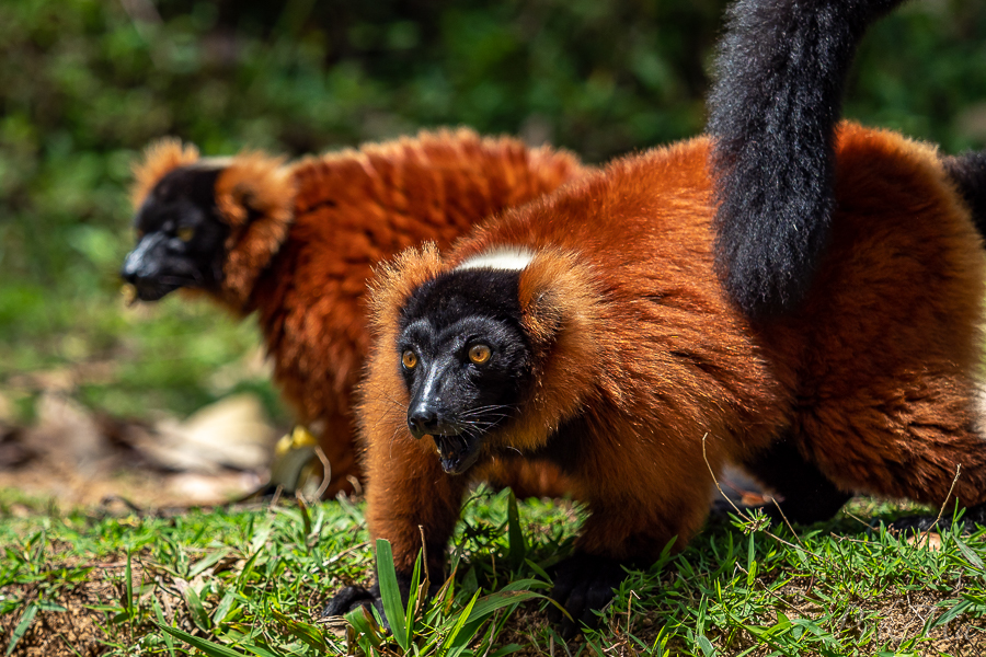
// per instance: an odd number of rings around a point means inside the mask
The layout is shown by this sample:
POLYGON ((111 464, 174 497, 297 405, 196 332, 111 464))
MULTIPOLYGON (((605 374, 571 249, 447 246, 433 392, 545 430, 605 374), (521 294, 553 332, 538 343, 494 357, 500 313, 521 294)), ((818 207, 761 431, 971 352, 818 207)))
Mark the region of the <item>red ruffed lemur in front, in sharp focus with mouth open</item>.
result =
MULTIPOLYGON (((689 541, 726 463, 777 488, 795 521, 830 516, 851 492, 941 505, 961 466, 952 494, 982 516, 984 158, 811 117, 845 66, 803 67, 826 48, 848 60, 884 4, 733 10, 721 61, 748 58, 747 71, 720 80, 713 116, 734 102, 725 88, 776 77, 769 97, 804 105, 772 132, 800 139, 807 120, 828 130, 819 139, 778 154, 721 122, 714 136, 617 160, 508 210, 443 255, 410 250, 379 272, 359 416, 367 521, 390 541, 400 583, 423 540, 433 579, 443 572, 470 482, 528 459, 562 469, 589 511, 552 593, 576 623, 595 620, 623 566, 689 541), (841 32, 852 38, 830 38, 841 32), (749 189, 729 173, 740 162, 749 189), (779 171, 801 164, 801 183, 779 171), (716 276, 732 280, 723 244, 740 240, 734 224, 716 230, 716 209, 747 193, 769 216, 745 220, 787 216, 827 233, 801 303, 777 316, 745 312, 733 296, 756 300, 756 289, 716 276)), ((754 123, 772 110, 747 107, 754 123)), ((752 232, 744 246, 768 255, 777 235, 752 232)), ((378 601, 347 587, 324 613, 378 601)))

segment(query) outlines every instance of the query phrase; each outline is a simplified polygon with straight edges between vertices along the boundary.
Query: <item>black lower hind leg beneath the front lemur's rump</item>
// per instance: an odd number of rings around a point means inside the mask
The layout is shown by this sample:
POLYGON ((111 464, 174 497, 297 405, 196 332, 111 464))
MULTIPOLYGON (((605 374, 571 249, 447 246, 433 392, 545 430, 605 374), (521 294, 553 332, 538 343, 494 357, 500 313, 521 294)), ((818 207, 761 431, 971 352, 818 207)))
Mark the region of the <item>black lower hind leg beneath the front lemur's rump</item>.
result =
MULTIPOLYGON (((779 502, 784 518, 798 525, 828 520, 852 495, 840 491, 821 470, 809 462, 792 439, 778 440, 757 453, 744 466, 783 497, 779 502)), ((764 511, 775 521, 781 517, 772 504, 764 511)))

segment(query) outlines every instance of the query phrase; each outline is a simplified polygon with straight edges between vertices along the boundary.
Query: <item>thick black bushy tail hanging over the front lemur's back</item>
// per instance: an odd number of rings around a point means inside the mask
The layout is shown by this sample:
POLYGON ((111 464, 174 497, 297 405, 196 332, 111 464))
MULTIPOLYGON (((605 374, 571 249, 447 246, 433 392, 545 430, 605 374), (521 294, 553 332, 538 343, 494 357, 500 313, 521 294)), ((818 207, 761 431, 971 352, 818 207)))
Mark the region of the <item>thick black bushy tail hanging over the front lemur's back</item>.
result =
POLYGON ((903 0, 740 0, 709 99, 715 264, 752 318, 804 299, 828 243, 834 130, 867 26, 903 0))

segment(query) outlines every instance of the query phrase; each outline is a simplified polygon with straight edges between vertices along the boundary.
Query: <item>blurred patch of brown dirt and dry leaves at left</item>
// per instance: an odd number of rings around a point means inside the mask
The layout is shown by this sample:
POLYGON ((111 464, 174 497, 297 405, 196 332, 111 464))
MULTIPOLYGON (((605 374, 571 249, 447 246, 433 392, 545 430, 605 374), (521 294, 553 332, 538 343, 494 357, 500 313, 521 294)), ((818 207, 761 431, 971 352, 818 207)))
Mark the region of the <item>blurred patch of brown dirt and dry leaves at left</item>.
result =
POLYGON ((60 508, 221 504, 267 481, 276 437, 249 395, 151 424, 96 416, 50 394, 33 425, 0 424, 0 489, 60 508))

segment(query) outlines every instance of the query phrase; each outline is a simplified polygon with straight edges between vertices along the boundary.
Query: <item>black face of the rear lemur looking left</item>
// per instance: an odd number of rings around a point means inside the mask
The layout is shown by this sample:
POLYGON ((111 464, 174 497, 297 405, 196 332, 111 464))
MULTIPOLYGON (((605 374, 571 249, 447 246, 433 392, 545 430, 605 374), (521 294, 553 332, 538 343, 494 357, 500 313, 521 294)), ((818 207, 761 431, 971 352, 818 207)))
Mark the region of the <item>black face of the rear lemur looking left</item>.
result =
POLYGON ((214 289, 222 280, 229 227, 220 221, 215 185, 221 169, 183 166, 163 176, 137 210, 139 239, 121 277, 137 298, 157 301, 182 287, 214 289))

